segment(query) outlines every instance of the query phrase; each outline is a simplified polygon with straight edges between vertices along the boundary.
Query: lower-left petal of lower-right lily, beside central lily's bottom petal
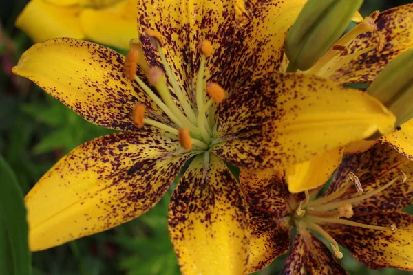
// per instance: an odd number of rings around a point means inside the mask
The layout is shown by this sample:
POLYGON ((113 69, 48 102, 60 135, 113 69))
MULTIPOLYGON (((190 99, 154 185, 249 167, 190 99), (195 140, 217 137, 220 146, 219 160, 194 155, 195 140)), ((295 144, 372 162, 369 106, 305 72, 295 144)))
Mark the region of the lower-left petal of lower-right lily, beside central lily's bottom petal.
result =
POLYGON ((250 208, 251 246, 248 274, 267 267, 277 256, 286 254, 290 246, 290 225, 286 220, 250 208))

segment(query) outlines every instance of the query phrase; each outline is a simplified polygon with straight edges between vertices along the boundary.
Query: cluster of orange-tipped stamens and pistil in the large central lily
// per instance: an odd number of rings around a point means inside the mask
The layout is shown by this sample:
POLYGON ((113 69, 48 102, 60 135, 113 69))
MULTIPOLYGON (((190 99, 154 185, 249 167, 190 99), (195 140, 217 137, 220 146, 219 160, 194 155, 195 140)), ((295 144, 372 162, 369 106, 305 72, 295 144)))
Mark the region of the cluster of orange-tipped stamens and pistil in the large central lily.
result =
POLYGON ((149 98, 155 102, 162 111, 173 122, 173 126, 152 120, 145 117, 145 106, 136 102, 132 117, 134 123, 138 128, 142 128, 145 124, 155 126, 158 129, 167 131, 172 137, 177 138, 183 148, 191 150, 195 146, 202 151, 207 151, 213 137, 215 135, 215 120, 214 110, 215 104, 219 104, 224 100, 225 91, 217 83, 207 83, 204 81, 205 64, 207 58, 211 56, 212 45, 209 41, 202 41, 199 45, 202 53, 200 68, 198 70, 197 83, 195 88, 195 109, 191 107, 188 93, 183 92, 178 84, 175 74, 173 74, 171 67, 167 63, 165 53, 163 51, 163 42, 159 32, 154 30, 147 30, 147 36, 151 39, 152 46, 158 50, 162 65, 165 68, 166 76, 159 67, 151 67, 143 60, 142 53, 139 50, 131 47, 131 51, 126 56, 124 73, 129 80, 134 80, 142 90, 144 90, 149 98), (140 67, 146 72, 147 80, 150 85, 155 87, 158 91, 156 95, 146 83, 136 76, 136 66, 140 67), (176 98, 173 98, 167 79, 171 83, 176 98), (207 95, 209 95, 209 99, 207 95))

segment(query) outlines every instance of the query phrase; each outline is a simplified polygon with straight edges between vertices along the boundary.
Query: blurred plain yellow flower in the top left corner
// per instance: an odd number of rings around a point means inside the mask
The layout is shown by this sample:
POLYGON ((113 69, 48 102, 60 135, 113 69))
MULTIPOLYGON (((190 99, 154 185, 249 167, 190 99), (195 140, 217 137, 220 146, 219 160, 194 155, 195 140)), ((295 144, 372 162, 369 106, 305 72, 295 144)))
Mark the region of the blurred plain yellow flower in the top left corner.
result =
POLYGON ((35 42, 57 37, 88 39, 122 49, 136 31, 134 0, 31 0, 16 21, 35 42))

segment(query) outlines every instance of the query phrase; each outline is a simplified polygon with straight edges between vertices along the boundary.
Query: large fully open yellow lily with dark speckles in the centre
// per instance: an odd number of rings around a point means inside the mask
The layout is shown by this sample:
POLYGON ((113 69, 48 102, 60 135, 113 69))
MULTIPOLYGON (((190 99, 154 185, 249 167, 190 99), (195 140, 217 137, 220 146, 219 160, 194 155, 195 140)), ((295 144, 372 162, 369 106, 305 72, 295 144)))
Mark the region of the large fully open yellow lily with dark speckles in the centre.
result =
POLYGON ((385 133, 395 120, 361 91, 277 73, 284 37, 304 2, 246 8, 244 1, 140 0, 145 60, 134 47, 125 59, 76 39, 26 51, 14 73, 86 120, 123 131, 75 148, 28 193, 30 248, 138 217, 190 160, 169 208, 182 273, 245 274, 247 205, 224 162, 283 169, 385 133))

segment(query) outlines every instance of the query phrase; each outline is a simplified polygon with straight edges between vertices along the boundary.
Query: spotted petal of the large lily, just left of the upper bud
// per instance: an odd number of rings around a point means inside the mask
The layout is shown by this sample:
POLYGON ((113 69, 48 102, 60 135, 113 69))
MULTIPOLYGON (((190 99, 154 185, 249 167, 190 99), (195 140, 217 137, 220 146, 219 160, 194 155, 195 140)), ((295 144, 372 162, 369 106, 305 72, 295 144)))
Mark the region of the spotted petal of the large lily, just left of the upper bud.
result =
POLYGON ((279 70, 286 33, 306 1, 235 1, 235 10, 244 10, 242 19, 246 22, 233 42, 223 45, 232 54, 223 57, 227 61, 224 67, 216 69, 213 65, 214 80, 231 94, 240 86, 279 70), (238 8, 242 3, 244 8, 238 8))

